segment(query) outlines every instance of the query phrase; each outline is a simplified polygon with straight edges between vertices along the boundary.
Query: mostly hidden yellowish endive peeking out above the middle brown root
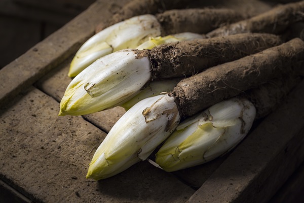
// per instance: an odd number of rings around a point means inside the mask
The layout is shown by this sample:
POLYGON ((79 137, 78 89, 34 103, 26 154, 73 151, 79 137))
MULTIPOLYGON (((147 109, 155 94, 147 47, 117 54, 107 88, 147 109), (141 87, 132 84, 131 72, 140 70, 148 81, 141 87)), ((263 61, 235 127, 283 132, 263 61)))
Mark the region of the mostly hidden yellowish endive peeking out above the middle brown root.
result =
POLYGON ((188 41, 188 40, 196 40, 196 39, 202 39, 203 36, 199 35, 197 33, 192 32, 182 32, 177 33, 175 35, 168 35, 165 37, 149 37, 149 40, 142 43, 136 49, 142 50, 142 49, 153 49, 154 47, 166 44, 166 43, 173 43, 173 42, 181 42, 181 41, 188 41))

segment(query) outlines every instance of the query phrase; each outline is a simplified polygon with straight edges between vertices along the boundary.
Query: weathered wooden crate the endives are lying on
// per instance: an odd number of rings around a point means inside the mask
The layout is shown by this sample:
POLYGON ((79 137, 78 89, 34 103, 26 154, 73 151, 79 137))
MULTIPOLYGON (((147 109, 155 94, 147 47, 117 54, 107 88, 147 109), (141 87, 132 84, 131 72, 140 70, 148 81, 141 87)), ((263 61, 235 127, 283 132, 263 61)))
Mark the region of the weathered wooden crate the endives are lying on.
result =
POLYGON ((75 51, 126 2, 97 1, 0 70, 0 188, 21 202, 267 202, 304 159, 304 82, 214 161, 175 173, 143 161, 109 179, 85 178, 124 110, 58 117, 59 102, 75 51))

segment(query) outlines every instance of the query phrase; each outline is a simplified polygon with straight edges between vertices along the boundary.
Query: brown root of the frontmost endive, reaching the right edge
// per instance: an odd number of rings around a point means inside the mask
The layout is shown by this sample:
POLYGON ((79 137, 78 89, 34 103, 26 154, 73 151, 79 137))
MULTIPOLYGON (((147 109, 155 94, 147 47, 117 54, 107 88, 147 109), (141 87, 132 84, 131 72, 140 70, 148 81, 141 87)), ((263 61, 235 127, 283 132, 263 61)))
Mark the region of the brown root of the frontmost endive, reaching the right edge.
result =
POLYGON ((302 66, 304 42, 298 38, 262 52, 223 63, 185 78, 169 93, 183 117, 236 96, 302 66))

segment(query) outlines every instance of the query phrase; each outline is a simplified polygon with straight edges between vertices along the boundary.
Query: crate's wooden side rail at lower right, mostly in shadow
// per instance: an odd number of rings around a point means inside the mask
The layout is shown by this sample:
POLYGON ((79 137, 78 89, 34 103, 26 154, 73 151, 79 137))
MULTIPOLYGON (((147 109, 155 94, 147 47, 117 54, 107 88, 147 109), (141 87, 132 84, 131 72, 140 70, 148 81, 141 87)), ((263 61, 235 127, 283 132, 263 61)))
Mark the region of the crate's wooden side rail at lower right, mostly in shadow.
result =
POLYGON ((304 160, 304 81, 188 202, 268 202, 304 160))

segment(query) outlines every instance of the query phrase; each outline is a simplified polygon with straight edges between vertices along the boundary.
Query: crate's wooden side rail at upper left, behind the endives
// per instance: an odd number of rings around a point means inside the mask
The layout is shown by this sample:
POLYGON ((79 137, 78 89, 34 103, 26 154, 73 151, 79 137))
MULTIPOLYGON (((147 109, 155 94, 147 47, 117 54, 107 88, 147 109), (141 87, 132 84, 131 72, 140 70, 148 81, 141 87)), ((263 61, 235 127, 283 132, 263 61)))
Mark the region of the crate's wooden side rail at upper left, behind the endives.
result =
MULTIPOLYGON (((119 1, 123 5, 127 1, 119 1)), ((13 98, 74 53, 94 34, 97 23, 111 17, 113 3, 97 1, 88 10, 0 70, 0 104, 13 98), (102 15, 101 15, 102 14, 102 15)))

